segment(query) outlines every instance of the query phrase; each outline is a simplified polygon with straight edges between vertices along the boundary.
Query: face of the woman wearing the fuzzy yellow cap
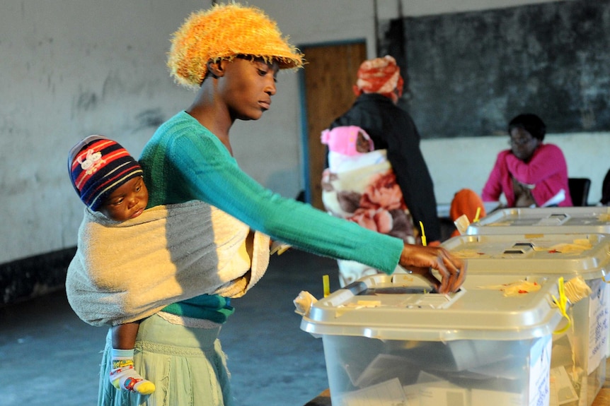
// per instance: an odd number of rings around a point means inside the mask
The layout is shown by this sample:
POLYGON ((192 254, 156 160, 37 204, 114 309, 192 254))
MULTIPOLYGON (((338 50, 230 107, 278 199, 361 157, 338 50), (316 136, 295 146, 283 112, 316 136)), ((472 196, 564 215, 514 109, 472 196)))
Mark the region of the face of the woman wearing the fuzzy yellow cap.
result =
POLYGON ((223 63, 225 73, 219 81, 219 90, 231 119, 260 119, 271 107, 279 66, 267 64, 262 59, 236 58, 223 63))

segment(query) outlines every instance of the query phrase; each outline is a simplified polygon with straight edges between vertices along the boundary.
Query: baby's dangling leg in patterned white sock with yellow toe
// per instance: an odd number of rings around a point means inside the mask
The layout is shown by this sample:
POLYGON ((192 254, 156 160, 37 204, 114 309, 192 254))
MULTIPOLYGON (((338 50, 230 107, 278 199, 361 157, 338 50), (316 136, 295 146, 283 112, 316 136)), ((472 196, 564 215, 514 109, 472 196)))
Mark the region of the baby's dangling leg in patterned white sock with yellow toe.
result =
POLYGON ((146 381, 134 369, 134 346, 139 321, 113 327, 113 367, 110 381, 115 388, 149 395, 155 390, 154 383, 146 381))

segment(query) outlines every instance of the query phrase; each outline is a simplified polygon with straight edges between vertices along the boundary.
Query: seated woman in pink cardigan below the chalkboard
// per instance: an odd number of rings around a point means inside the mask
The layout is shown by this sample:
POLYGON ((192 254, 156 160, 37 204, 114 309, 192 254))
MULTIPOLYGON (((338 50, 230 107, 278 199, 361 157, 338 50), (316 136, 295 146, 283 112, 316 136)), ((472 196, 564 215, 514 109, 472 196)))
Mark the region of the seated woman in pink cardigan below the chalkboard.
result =
POLYGON ((545 144, 546 125, 535 114, 519 114, 508 124, 510 149, 497 155, 483 187, 483 201, 507 207, 572 206, 568 165, 557 145, 545 144))

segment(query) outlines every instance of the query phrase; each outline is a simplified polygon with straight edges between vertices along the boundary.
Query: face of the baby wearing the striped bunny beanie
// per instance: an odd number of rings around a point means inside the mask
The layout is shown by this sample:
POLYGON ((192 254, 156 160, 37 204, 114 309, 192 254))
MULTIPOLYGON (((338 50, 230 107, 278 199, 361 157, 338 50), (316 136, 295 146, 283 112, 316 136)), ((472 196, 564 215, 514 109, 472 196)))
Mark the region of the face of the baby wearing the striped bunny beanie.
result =
POLYGON ((142 214, 149 203, 149 192, 142 177, 122 184, 105 200, 100 213, 115 221, 125 221, 142 214))

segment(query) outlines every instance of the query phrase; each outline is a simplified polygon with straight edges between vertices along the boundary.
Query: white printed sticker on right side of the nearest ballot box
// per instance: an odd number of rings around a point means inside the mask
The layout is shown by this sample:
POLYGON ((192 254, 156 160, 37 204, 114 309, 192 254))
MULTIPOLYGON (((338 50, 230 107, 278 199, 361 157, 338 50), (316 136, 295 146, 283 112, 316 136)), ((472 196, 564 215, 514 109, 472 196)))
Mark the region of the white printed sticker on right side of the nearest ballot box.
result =
POLYGON ((529 350, 529 406, 550 403, 551 335, 534 342, 529 350))

